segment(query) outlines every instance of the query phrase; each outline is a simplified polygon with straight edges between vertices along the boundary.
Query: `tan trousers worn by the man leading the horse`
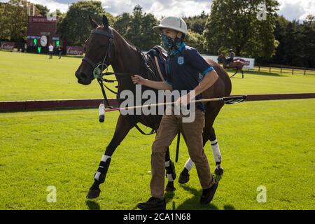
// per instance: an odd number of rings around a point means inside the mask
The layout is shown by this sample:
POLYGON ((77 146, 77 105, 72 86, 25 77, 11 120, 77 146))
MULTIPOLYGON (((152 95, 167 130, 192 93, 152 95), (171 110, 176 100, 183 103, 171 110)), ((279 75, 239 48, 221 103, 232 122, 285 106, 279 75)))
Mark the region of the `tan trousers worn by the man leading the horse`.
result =
POLYGON ((162 197, 165 189, 165 153, 172 144, 180 128, 186 141, 190 158, 195 162, 200 185, 203 189, 214 185, 207 156, 204 153, 202 132, 204 129, 204 112, 195 111, 193 123, 183 123, 182 115, 164 115, 152 145, 151 154, 151 195, 162 197))

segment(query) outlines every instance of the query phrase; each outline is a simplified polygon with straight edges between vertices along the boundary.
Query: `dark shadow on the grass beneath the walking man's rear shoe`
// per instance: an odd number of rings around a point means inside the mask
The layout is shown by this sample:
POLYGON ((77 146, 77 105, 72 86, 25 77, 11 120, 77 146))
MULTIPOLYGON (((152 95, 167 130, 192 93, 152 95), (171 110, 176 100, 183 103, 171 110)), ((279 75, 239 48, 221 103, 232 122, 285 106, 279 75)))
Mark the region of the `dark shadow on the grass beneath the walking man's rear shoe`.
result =
MULTIPOLYGON (((196 190, 195 188, 190 188, 188 186, 181 186, 183 190, 189 191, 194 195, 194 197, 186 200, 182 204, 180 204, 176 209, 177 210, 218 210, 214 204, 202 205, 200 204, 200 196, 202 195, 201 190, 196 190)), ((225 210, 235 210, 231 204, 225 204, 225 210)))

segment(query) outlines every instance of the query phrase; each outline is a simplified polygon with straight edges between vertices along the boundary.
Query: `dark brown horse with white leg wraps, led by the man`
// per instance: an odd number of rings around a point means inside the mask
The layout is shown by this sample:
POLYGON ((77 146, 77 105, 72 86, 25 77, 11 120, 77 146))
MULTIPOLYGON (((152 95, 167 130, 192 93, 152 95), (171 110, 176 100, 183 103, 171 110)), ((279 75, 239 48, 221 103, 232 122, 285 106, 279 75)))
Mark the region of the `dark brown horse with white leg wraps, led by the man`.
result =
MULTIPOLYGON (((90 16, 90 24, 92 26, 92 31, 85 41, 85 56, 80 63, 80 66, 75 72, 75 76, 78 79, 78 83, 82 85, 89 85, 94 79, 93 72, 99 65, 109 66, 111 65, 115 73, 116 79, 118 81, 118 96, 123 90, 130 90, 135 93, 135 85, 132 83, 131 74, 141 74, 144 78, 155 78, 159 77, 156 75, 158 73, 157 69, 154 68, 152 60, 148 59, 148 55, 144 55, 141 50, 132 45, 121 36, 118 31, 109 26, 109 20, 103 15, 102 25, 98 25, 90 16), (148 62, 146 66, 145 62, 148 62), (151 70, 153 72, 148 72, 151 70), (120 75, 119 75, 120 73, 120 75), (121 76, 121 74, 130 74, 121 76)), ((218 73, 218 80, 216 83, 202 93, 202 97, 228 97, 230 96, 232 90, 232 83, 228 73, 216 62, 211 59, 207 59, 207 62, 214 66, 214 69, 218 73)), ((102 70, 104 68, 102 67, 102 70)), ((161 80, 155 78, 156 80, 161 80)), ((146 88, 142 88, 144 91, 146 88)), ((122 103, 122 99, 118 97, 118 104, 122 103)), ((204 145, 207 141, 216 141, 216 134, 214 131, 214 120, 218 116, 219 111, 223 107, 223 102, 209 102, 204 104, 205 113, 205 127, 203 132, 203 143, 204 145)), ((109 164, 111 162, 111 157, 120 145, 120 143, 125 139, 128 132, 133 128, 137 127, 137 123, 141 123, 146 127, 151 127, 153 130, 158 130, 162 115, 122 115, 120 113, 118 121, 116 123, 116 129, 113 134, 111 141, 108 146, 106 146, 106 151, 99 163, 99 168, 94 174, 94 183, 92 184, 90 190, 87 193, 87 199, 94 199, 99 197, 101 192, 99 186, 104 183, 106 179, 106 174, 109 169, 109 164)), ((185 139, 185 138, 184 138, 185 139)), ((218 144, 216 144, 218 146, 218 144)), ((216 151, 213 149, 213 153, 216 158, 216 166, 218 167, 218 172, 223 172, 221 168, 221 153, 216 147, 216 151)), ((167 149, 165 156, 165 169, 167 173, 167 187, 165 190, 173 191, 174 179, 176 178, 176 172, 174 163, 170 160, 169 149, 167 149)), ((187 181, 187 179, 186 179, 187 181)))

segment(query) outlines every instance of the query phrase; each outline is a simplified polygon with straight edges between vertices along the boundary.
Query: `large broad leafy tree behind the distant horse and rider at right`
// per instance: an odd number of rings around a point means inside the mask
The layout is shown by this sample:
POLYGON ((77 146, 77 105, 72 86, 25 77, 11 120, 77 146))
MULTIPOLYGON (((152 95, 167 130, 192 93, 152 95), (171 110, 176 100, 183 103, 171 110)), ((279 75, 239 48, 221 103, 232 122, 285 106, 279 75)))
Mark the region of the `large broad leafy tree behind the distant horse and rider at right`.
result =
POLYGON ((278 41, 274 38, 276 0, 214 0, 204 30, 205 48, 211 54, 233 48, 237 55, 272 57, 278 41), (266 20, 258 20, 264 3, 266 20))

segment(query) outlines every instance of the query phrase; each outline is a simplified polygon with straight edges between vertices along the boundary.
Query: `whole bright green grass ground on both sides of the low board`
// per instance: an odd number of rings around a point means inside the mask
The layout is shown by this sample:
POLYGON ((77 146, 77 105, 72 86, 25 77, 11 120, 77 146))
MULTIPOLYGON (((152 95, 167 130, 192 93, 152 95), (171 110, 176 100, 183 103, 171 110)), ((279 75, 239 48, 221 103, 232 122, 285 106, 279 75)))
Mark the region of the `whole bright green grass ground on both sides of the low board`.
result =
MULTIPOLYGON (((101 98, 97 83, 76 83, 76 57, 0 51, 0 100, 101 98)), ((315 76, 247 71, 232 94, 315 92, 315 76)), ((113 95, 111 95, 113 97, 113 95)), ((98 122, 97 109, 0 113, 0 209, 135 209, 150 196, 151 144, 132 130, 111 160, 98 200, 85 200, 111 140, 117 112, 98 122), (47 187, 57 189, 48 203, 47 187)), ((167 209, 315 209, 315 99, 224 106, 214 127, 225 173, 214 200, 200 206, 195 168, 167 193, 167 209), (258 203, 258 186, 267 202, 258 203)), ((211 146, 205 147, 211 169, 211 146)), ((175 141, 171 147, 175 158, 175 141)), ((179 174, 188 158, 181 141, 179 174)))

